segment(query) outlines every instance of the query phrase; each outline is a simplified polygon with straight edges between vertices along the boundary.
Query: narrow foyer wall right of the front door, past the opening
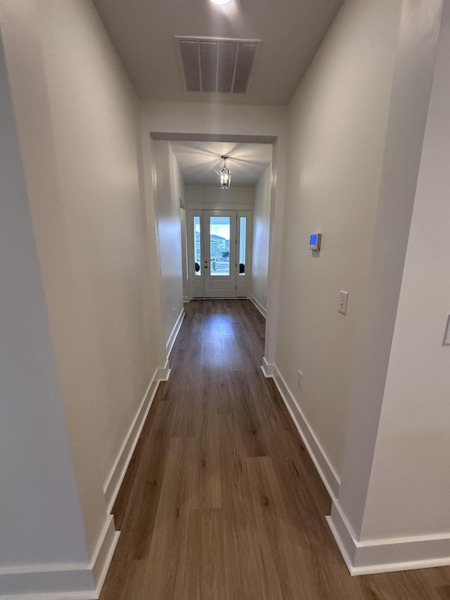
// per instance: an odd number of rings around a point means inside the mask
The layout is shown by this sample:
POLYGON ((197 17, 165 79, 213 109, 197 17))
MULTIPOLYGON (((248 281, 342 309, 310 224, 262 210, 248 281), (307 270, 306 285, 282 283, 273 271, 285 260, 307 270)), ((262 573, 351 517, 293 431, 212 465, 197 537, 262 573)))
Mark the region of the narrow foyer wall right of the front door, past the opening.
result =
POLYGON ((270 196, 272 167, 266 168, 255 185, 252 237, 252 295, 266 309, 269 269, 270 196))

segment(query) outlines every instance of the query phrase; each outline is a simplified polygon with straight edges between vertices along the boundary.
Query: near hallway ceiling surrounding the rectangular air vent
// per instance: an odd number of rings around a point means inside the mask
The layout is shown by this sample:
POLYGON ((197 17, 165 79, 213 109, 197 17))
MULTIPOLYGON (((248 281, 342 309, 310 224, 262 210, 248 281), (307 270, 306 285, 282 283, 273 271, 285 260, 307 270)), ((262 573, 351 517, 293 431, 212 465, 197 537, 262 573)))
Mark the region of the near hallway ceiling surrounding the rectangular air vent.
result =
POLYGON ((142 98, 286 104, 342 0, 94 0, 142 98), (175 35, 261 39, 248 93, 184 91, 175 35))

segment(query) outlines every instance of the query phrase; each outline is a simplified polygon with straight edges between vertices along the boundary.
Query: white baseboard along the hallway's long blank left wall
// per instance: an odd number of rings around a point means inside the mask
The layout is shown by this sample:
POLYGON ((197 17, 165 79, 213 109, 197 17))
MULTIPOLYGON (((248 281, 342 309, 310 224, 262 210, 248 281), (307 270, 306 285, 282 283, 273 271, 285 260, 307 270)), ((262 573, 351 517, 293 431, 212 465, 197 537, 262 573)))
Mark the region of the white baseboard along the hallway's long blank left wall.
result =
POLYGON ((155 373, 148 384, 148 388, 143 395, 143 400, 141 401, 139 409, 136 412, 136 416, 134 417, 128 433, 125 436, 122 447, 117 454, 113 468, 111 468, 105 485, 103 485, 103 496, 105 497, 105 504, 108 506, 108 514, 113 511, 115 499, 119 493, 125 473, 127 473, 129 462, 131 461, 134 449, 136 448, 136 444, 139 440, 139 435, 141 435, 141 430, 146 421, 153 398, 158 390, 158 385, 160 381, 167 381, 169 374, 170 369, 167 369, 167 362, 164 368, 155 370, 155 373))

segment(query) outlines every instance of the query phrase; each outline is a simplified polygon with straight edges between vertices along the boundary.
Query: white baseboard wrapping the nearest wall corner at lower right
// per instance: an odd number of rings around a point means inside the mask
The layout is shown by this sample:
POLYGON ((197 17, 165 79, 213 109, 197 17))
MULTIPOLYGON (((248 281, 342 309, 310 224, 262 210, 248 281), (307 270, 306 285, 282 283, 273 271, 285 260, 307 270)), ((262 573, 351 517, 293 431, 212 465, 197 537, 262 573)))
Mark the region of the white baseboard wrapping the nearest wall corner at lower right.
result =
POLYGON ((327 518, 350 575, 450 566, 450 535, 356 540, 337 500, 327 518))

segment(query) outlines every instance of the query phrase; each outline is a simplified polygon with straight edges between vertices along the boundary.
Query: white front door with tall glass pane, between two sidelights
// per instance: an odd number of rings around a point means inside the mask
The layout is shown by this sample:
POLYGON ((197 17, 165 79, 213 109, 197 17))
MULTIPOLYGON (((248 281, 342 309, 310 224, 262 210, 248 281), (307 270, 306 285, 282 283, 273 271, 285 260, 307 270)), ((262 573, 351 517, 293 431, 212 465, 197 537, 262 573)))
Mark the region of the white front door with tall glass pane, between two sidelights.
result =
POLYGON ((236 296, 236 210, 203 211, 205 298, 236 296))

